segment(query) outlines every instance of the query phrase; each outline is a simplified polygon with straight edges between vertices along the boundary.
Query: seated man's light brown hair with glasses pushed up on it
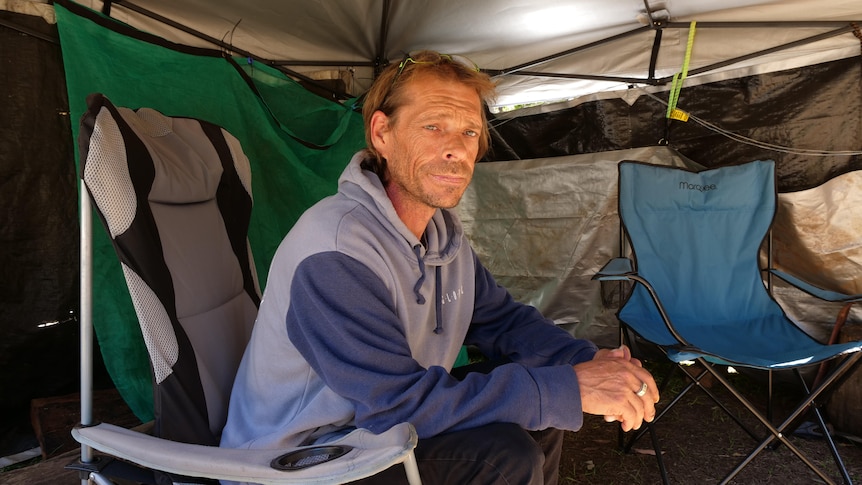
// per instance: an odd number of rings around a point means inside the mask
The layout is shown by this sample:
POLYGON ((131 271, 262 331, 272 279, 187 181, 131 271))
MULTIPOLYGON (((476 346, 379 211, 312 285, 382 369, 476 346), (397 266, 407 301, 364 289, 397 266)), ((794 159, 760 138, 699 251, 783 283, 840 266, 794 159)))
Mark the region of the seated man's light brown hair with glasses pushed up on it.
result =
MULTIPOLYGON (((369 156, 362 162, 362 168, 380 177, 384 185, 388 182, 386 159, 374 148, 371 142, 371 116, 382 111, 392 122, 398 117, 398 109, 403 106, 405 88, 418 74, 431 74, 443 80, 461 83, 472 88, 484 103, 493 99, 496 86, 487 74, 479 71, 472 61, 459 56, 440 54, 434 51, 420 51, 404 58, 400 64, 391 64, 383 70, 365 95, 362 105, 362 118, 365 122, 365 144, 369 156)), ((479 151, 476 161, 482 158, 491 144, 488 120, 482 111, 482 132, 479 134, 479 151)))

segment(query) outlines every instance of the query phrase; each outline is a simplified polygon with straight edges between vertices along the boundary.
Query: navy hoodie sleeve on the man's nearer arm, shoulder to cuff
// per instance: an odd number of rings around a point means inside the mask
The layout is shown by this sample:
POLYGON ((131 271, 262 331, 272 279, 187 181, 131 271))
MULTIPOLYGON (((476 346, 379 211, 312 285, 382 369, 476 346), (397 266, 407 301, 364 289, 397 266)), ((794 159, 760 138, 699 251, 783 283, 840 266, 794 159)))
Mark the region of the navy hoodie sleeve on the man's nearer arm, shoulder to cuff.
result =
POLYGON ((582 424, 569 364, 507 364, 463 381, 442 367, 423 368, 383 282, 349 256, 318 253, 298 266, 286 325, 326 385, 354 404, 358 427, 380 432, 409 421, 426 438, 495 422, 533 430, 582 424))

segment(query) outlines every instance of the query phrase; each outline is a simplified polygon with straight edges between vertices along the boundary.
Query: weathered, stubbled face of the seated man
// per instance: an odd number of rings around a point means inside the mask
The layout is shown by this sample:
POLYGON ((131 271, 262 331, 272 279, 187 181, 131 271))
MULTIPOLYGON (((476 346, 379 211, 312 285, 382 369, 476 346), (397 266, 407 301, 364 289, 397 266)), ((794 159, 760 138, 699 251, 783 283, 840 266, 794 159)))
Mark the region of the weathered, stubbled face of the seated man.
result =
POLYGON ((406 88, 408 101, 375 142, 387 160, 387 193, 410 210, 454 207, 473 176, 482 102, 473 89, 433 75, 406 88))

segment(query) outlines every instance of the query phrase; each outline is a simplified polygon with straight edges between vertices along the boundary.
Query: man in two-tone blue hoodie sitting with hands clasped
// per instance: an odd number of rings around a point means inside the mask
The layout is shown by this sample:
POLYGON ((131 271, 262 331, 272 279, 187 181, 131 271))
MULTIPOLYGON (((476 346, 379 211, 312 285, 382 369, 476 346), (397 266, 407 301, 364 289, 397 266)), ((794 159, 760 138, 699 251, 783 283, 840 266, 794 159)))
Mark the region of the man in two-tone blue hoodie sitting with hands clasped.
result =
MULTIPOLYGON (((490 79, 424 51, 384 71, 363 108, 368 149, 309 209, 270 268, 222 444, 324 442, 412 423, 427 484, 556 483, 583 413, 625 430, 655 415, 628 349, 597 352, 481 265, 454 207, 488 147, 490 79), (487 373, 450 374, 463 343, 487 373)), ((403 470, 365 480, 397 483, 403 470)))

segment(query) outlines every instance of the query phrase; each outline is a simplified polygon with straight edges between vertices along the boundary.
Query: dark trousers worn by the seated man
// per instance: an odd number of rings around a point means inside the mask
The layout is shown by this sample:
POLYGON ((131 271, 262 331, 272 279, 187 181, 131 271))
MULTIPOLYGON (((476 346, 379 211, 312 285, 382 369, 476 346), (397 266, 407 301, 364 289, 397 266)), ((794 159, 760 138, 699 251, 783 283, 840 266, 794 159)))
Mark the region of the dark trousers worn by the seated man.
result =
MULTIPOLYGON (((556 485, 562 444, 558 429, 495 423, 420 439, 415 454, 423 485, 556 485)), ((396 465, 353 483, 406 484, 407 475, 396 465)))

